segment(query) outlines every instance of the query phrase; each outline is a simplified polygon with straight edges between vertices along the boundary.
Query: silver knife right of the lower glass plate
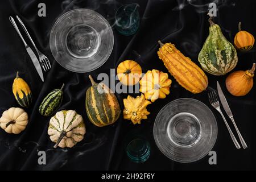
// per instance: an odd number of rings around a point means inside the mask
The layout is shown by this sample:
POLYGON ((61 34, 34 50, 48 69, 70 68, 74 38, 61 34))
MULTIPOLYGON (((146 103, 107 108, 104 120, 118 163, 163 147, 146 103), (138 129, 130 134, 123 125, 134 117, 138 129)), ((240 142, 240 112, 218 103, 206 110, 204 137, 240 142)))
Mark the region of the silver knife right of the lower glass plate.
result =
POLYGON ((220 87, 220 84, 218 83, 217 81, 217 89, 218 89, 218 97, 220 97, 220 101, 221 101, 221 104, 224 108, 224 110, 226 111, 226 114, 228 114, 229 118, 231 119, 234 127, 236 128, 236 131, 237 131, 237 134, 238 134, 238 137, 240 139, 240 142, 242 143, 242 146, 243 146, 243 149, 246 149, 247 148, 247 145, 245 143, 245 140, 243 139, 240 131, 238 130, 238 127, 236 125, 236 122, 234 121, 234 118, 233 118, 233 114, 232 114, 232 111, 230 110, 229 108, 229 104, 228 102, 226 101, 226 98, 224 96, 224 93, 222 92, 221 90, 221 87, 220 87))

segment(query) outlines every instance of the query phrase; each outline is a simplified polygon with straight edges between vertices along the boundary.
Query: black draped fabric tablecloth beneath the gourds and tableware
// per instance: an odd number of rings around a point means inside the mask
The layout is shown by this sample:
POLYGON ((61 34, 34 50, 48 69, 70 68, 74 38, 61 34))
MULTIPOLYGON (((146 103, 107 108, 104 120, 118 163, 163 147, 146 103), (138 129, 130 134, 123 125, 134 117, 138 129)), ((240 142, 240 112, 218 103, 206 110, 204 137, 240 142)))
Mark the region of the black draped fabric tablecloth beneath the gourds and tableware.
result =
MULTIPOLYGON (((230 139, 228 130, 220 114, 214 110, 207 97, 207 92, 192 94, 181 88, 173 77, 171 93, 164 100, 157 100, 148 106, 151 112, 148 119, 141 125, 133 125, 130 121, 119 118, 114 125, 96 127, 89 122, 85 113, 85 92, 90 86, 88 75, 94 78, 99 73, 110 74, 110 68, 116 68, 118 63, 126 59, 134 59, 141 65, 143 72, 148 69, 159 69, 168 72, 156 51, 159 48, 157 40, 172 42, 184 55, 191 57, 196 64, 197 56, 208 35, 208 3, 211 1, 181 1, 181 0, 10 0, 0 1, 0 114, 9 107, 17 106, 11 85, 15 72, 30 85, 33 94, 33 104, 26 111, 30 121, 25 131, 18 135, 10 135, 0 130, 0 169, 4 170, 241 170, 256 169, 255 143, 255 86, 245 97, 234 97, 225 88, 226 76, 212 76, 209 86, 216 89, 219 81, 225 96, 233 111, 237 125, 247 142, 247 150, 237 150, 230 139), (38 16, 38 4, 46 3, 46 17, 38 16), (141 14, 141 26, 137 34, 122 36, 113 27, 114 48, 112 55, 102 67, 90 73, 73 73, 61 67, 52 57, 49 49, 49 33, 55 20, 68 10, 88 8, 102 14, 109 23, 114 23, 114 13, 125 3, 138 3, 141 14), (26 24, 38 48, 44 52, 52 63, 51 71, 44 73, 45 82, 35 71, 34 66, 24 49, 23 43, 9 22, 10 15, 19 15, 26 24), (60 88, 65 83, 64 100, 61 109, 73 109, 81 114, 86 125, 84 140, 71 149, 53 149, 53 143, 47 134, 49 117, 42 117, 38 107, 42 99, 52 89, 60 88), (217 152, 217 165, 208 164, 209 156, 198 162, 181 164, 166 158, 156 147, 153 137, 153 125, 156 114, 168 102, 177 98, 196 98, 204 102, 213 111, 218 123, 218 138, 213 150, 217 152), (126 135, 139 133, 146 137, 151 145, 151 156, 147 162, 135 164, 127 159, 123 143, 126 135), (38 151, 47 154, 47 165, 38 164, 38 151)), ((233 43, 237 32, 237 24, 242 22, 242 28, 255 34, 256 3, 255 1, 218 0, 218 23, 226 38, 233 43)), ((24 32, 23 32, 24 33, 24 32)), ((25 34, 24 34, 25 35, 25 34)), ((251 68, 255 59, 255 47, 246 53, 238 52, 238 65, 234 70, 251 68)), ((122 105, 126 94, 117 94, 122 105)), ((227 115, 225 114, 228 119, 227 115)), ((230 126, 232 123, 228 120, 230 126)), ((234 127, 232 126, 234 130, 234 127)), ((237 135, 236 135, 237 136, 237 135)), ((237 137, 238 139, 238 137, 237 137)))

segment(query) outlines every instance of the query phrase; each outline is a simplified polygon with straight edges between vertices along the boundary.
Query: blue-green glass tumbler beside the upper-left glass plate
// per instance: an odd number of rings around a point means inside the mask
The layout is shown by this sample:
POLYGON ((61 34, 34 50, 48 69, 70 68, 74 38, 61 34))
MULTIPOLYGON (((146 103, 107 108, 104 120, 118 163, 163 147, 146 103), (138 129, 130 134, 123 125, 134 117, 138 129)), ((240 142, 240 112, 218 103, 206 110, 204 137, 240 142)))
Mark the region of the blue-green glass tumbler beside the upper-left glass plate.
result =
POLYGON ((123 5, 115 13, 115 27, 122 35, 133 35, 139 28, 138 4, 123 5))

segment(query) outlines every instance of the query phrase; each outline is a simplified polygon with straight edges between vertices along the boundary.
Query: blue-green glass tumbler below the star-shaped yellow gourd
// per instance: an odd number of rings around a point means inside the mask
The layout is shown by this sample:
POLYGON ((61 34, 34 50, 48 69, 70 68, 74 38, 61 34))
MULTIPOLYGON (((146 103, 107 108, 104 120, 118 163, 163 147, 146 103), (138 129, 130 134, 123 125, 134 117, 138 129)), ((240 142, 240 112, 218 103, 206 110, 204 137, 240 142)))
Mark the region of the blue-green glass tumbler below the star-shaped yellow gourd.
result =
POLYGON ((143 163, 150 156, 150 144, 143 138, 134 138, 126 147, 126 154, 135 163, 143 163))

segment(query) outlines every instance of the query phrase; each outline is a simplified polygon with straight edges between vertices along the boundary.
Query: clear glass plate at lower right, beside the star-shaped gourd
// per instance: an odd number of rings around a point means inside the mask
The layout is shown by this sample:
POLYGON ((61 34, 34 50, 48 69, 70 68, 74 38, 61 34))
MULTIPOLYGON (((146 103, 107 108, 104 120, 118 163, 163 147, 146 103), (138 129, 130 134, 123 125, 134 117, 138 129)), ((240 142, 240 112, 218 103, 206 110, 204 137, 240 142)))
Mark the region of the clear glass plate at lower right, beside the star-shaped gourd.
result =
POLYGON ((159 111, 154 123, 154 139, 159 150, 180 163, 195 162, 207 155, 217 133, 212 111, 192 98, 169 102, 159 111))

